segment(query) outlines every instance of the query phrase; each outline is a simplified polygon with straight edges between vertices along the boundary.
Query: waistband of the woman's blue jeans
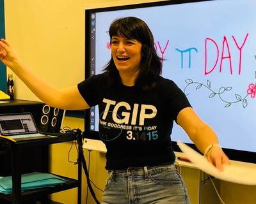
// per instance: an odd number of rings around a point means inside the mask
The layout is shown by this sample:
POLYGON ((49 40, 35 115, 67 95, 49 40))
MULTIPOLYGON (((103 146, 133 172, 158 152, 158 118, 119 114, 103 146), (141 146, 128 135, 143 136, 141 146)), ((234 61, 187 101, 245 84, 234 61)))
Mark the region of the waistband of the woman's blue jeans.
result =
POLYGON ((115 175, 115 177, 124 177, 129 175, 148 175, 148 173, 172 171, 175 169, 174 164, 161 164, 157 166, 129 167, 126 170, 108 170, 108 172, 110 175, 115 175))

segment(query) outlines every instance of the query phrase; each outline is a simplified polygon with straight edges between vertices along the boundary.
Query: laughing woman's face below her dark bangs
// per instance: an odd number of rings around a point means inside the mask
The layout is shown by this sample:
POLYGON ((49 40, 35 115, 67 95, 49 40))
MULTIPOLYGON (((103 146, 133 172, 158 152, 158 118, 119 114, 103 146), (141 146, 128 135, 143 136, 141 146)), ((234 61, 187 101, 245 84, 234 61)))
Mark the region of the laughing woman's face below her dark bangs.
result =
POLYGON ((120 36, 111 38, 111 54, 119 72, 138 73, 141 61, 141 43, 120 36))

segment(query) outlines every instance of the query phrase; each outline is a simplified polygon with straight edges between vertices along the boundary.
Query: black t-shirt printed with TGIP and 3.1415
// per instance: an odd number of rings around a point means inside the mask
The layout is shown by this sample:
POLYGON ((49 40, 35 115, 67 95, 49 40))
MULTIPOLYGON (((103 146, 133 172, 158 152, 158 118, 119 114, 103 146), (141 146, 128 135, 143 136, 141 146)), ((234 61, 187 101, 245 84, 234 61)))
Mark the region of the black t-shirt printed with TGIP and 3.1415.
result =
POLYGON ((173 121, 191 106, 177 85, 160 77, 154 88, 109 87, 106 73, 79 83, 88 105, 99 105, 99 134, 106 144, 106 169, 173 163, 173 121))

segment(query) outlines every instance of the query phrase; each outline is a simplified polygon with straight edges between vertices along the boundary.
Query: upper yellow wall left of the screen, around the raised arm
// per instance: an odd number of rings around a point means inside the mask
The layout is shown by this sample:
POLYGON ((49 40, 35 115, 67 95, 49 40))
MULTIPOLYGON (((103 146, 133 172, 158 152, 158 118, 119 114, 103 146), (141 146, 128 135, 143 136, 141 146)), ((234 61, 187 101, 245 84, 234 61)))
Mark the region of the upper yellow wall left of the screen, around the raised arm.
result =
MULTIPOLYGON (((145 2, 7 0, 6 39, 29 68, 52 84, 67 87, 84 79, 85 8, 145 2)), ((15 98, 39 100, 19 78, 13 78, 15 98)))

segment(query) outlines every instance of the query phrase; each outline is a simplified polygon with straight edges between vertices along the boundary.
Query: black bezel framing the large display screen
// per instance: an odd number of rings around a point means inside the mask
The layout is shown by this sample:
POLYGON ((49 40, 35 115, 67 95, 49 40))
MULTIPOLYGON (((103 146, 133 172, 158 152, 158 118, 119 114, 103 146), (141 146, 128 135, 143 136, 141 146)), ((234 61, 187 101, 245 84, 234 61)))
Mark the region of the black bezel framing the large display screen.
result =
MULTIPOLYGON (((216 0, 173 0, 173 1, 158 1, 158 2, 149 2, 149 3, 140 3, 140 4, 128 4, 124 6, 110 6, 105 8, 92 8, 85 10, 85 59, 91 59, 90 56, 90 15, 91 13, 104 12, 104 11, 116 11, 116 10, 127 10, 134 8, 144 8, 152 6, 164 6, 171 4, 182 4, 182 3, 196 3, 204 1, 216 1, 216 0)), ((90 77, 90 60, 85 60, 85 78, 90 77)), ((84 137, 94 140, 100 140, 99 132, 90 130, 90 109, 85 111, 84 114, 84 137)), ((173 150, 175 152, 181 152, 177 142, 171 141, 173 150)), ((241 141, 242 142, 242 141, 241 141)), ((186 143, 189 147, 197 150, 193 143, 186 143)), ((243 161, 247 163, 256 163, 256 152, 248 152, 244 150, 236 149, 223 149, 227 156, 235 161, 243 161)), ((198 150, 197 150, 198 151, 198 150)), ((199 151, 198 151, 199 152, 199 151)))

